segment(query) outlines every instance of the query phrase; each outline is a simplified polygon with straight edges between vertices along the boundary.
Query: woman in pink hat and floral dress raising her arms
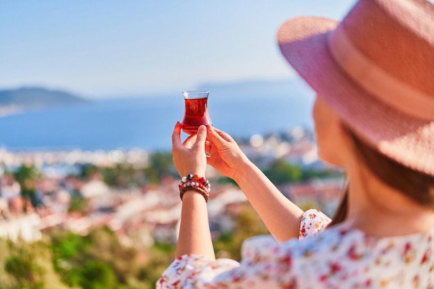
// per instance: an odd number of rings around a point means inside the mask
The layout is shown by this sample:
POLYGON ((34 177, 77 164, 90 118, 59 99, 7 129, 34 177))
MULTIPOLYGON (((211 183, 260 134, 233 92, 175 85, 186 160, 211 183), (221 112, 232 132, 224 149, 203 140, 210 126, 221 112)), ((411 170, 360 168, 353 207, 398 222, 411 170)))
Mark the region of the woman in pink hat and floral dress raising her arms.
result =
POLYGON ((433 4, 361 0, 340 24, 287 21, 279 45, 317 91, 320 157, 346 170, 339 219, 297 208, 225 132, 202 126, 182 143, 177 123, 173 161, 191 175, 177 259, 157 288, 434 288, 433 4), (279 243, 255 237, 241 263, 215 259, 207 164, 237 182, 279 243))

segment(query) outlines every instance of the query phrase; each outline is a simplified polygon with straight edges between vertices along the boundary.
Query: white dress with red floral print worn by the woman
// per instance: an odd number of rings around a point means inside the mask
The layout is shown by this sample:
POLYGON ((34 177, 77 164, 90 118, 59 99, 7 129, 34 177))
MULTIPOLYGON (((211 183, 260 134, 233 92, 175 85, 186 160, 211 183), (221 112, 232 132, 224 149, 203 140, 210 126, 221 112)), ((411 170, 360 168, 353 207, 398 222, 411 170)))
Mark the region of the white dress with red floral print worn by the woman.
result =
POLYGON ((329 222, 320 211, 306 211, 303 240, 278 244, 271 236, 250 238, 243 243, 241 263, 180 256, 157 281, 157 289, 434 289, 434 228, 377 238, 345 225, 323 231, 329 222))

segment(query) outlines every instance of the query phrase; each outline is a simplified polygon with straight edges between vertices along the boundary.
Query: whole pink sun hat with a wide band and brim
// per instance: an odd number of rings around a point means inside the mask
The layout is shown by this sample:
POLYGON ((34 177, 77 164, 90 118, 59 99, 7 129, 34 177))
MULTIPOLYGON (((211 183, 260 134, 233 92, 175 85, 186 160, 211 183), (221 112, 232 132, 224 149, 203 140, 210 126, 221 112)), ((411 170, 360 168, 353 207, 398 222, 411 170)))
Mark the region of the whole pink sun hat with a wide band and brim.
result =
POLYGON ((339 23, 290 19, 279 29, 291 66, 366 143, 434 176, 434 5, 361 0, 339 23))

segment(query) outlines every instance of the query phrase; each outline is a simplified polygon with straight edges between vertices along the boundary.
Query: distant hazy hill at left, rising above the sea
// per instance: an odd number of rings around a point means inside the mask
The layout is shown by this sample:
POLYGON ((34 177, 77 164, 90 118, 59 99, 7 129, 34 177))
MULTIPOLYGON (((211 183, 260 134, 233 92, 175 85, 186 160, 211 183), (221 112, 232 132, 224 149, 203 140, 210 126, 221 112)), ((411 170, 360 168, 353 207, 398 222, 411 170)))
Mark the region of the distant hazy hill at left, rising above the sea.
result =
POLYGON ((42 87, 23 87, 0 90, 0 114, 23 112, 42 107, 76 105, 88 100, 67 91, 50 90, 42 87))

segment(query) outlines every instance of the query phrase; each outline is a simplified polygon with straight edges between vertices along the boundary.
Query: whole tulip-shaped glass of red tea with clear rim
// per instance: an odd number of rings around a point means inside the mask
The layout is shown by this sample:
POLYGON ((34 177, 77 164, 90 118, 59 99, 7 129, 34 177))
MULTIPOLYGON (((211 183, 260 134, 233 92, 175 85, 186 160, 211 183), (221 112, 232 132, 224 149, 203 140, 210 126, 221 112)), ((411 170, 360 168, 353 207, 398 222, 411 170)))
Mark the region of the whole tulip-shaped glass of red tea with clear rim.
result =
POLYGON ((209 91, 182 91, 185 103, 182 130, 186 134, 196 134, 200 125, 211 125, 208 113, 209 91))

